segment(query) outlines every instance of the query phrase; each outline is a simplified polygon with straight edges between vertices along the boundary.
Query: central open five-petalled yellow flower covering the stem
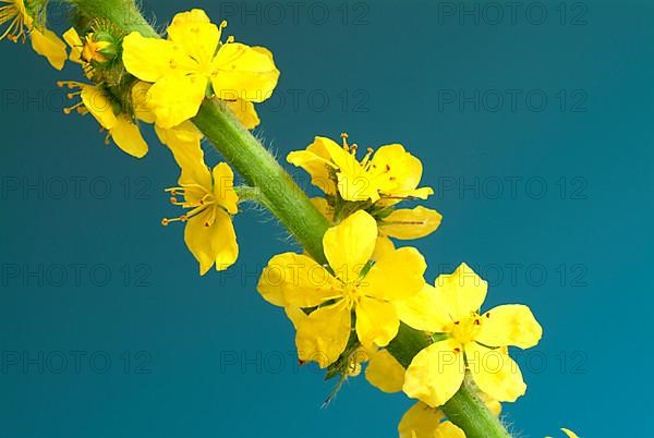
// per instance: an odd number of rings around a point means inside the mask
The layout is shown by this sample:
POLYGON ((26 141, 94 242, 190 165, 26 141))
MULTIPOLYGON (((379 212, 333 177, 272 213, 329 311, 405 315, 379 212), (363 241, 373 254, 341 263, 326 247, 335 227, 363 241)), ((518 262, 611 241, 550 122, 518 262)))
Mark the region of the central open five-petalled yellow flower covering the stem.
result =
POLYGON ((384 346, 396 337, 400 320, 392 302, 423 288, 426 264, 415 248, 403 247, 371 266, 376 239, 375 219, 360 210, 325 233, 330 271, 294 253, 272 257, 264 269, 258 291, 287 307, 301 361, 320 367, 336 362, 350 339, 352 315, 364 346, 384 346), (305 315, 300 308, 313 312, 305 315))

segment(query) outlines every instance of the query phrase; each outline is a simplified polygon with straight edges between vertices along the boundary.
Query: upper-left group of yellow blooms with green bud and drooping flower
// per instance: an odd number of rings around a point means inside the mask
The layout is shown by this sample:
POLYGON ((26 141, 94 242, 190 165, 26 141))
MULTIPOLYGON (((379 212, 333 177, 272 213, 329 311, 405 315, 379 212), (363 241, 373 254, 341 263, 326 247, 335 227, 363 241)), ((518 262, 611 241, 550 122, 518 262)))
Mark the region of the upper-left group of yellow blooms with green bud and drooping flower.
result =
POLYGON ((213 24, 204 11, 194 9, 174 16, 167 39, 137 32, 125 35, 102 21, 63 34, 71 50, 68 58, 82 66, 88 81, 59 82, 71 88, 69 98, 80 99, 64 111, 90 113, 107 131, 105 143, 112 139, 136 158, 148 151, 141 125, 154 125, 181 169, 177 186, 167 192, 171 203, 185 210, 161 222, 186 223, 184 242, 201 275, 213 266, 227 269, 237 260, 231 218, 239 211, 239 197, 227 163, 213 169, 205 165, 203 135, 192 119, 203 101, 216 99, 246 129, 254 129, 259 123, 254 102, 267 99, 279 77, 265 48, 234 42, 233 37, 221 41, 226 25, 213 24))

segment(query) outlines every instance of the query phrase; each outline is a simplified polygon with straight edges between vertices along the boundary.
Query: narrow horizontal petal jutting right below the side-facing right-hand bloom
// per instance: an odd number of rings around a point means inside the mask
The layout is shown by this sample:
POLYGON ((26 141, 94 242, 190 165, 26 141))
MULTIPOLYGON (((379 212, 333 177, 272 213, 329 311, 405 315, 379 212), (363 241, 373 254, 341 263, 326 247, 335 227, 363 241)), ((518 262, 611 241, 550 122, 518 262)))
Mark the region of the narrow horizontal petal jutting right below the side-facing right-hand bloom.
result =
POLYGON ((443 216, 425 207, 399 209, 379 222, 379 231, 396 239, 420 239, 436 231, 443 216))

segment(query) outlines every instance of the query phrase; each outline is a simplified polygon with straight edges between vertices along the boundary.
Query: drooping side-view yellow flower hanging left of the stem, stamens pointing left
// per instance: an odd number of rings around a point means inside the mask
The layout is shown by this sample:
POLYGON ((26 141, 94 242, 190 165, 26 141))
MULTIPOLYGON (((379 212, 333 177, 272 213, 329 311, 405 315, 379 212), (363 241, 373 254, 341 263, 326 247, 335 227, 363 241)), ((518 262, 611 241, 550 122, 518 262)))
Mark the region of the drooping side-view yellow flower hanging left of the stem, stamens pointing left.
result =
POLYGON ((171 195, 172 204, 187 211, 178 218, 164 219, 161 223, 167 226, 172 221, 186 222, 184 242, 199 263, 202 276, 214 265, 216 270, 225 270, 239 256, 237 234, 231 221, 239 209, 233 172, 225 162, 209 171, 199 143, 196 144, 197 147, 177 142, 168 146, 181 168, 181 174, 179 185, 167 188, 167 192, 171 195), (183 200, 178 199, 178 195, 183 200))

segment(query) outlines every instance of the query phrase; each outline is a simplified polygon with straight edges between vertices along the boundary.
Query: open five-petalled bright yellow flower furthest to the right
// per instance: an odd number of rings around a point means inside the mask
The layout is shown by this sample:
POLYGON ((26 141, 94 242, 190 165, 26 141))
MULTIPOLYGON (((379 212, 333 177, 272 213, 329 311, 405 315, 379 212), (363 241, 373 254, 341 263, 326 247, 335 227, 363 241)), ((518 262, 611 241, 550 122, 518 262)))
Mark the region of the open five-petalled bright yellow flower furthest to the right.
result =
POLYGON ((452 275, 436 279, 413 300, 396 303, 408 325, 444 333, 413 357, 404 392, 431 406, 447 402, 459 389, 468 368, 476 386, 499 401, 516 401, 526 389, 508 345, 538 343, 543 329, 529 307, 501 305, 480 314, 487 283, 462 264, 452 275))

